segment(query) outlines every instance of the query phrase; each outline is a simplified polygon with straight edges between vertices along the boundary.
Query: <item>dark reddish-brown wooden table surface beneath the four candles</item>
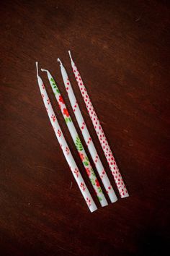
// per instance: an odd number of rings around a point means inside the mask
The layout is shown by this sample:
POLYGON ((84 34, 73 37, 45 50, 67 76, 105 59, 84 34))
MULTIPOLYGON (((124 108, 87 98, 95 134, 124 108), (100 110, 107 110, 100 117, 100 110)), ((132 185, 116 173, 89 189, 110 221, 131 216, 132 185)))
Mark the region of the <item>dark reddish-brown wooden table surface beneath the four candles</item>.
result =
MULTIPOLYGON (((164 255, 169 242, 169 14, 168 1, 1 2, 0 255, 164 255), (60 57, 112 179, 68 50, 130 193, 94 213, 68 168, 37 86, 35 61, 50 69, 71 110, 60 57)), ((48 79, 40 75, 84 173, 48 79)), ((73 111, 71 117, 75 121, 73 111)), ((113 179, 112 184, 117 192, 113 179)))

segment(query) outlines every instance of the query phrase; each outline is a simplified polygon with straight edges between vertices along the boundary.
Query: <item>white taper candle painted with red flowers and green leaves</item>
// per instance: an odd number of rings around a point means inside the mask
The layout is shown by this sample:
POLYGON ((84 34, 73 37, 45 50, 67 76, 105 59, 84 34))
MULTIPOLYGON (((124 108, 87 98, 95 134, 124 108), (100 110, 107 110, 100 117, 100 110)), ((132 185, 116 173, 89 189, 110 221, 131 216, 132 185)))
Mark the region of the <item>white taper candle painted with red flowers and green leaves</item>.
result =
POLYGON ((104 197, 104 194, 102 192, 102 188, 99 185, 99 182, 97 180, 96 174, 94 174, 94 170, 91 167, 91 163, 89 161, 89 158, 86 155, 86 151, 84 150, 84 146, 81 143, 80 137, 76 131, 76 127, 73 124, 73 121, 71 119, 70 114, 68 113, 68 109, 66 107, 66 104, 63 101, 62 95, 58 89, 58 86, 55 83, 55 80, 53 79, 50 72, 46 69, 41 69, 42 72, 45 71, 48 74, 48 80, 50 82, 51 88, 53 89, 53 93, 55 95, 55 98, 58 102, 58 105, 61 109, 61 113, 63 114, 63 118, 66 121, 66 125, 68 127, 68 130, 71 134, 71 137, 73 139, 74 144, 76 145, 76 149, 79 153, 79 157, 81 158, 81 161, 84 165, 84 168, 86 170, 87 175, 89 176, 90 182, 92 186, 94 187, 94 190, 97 194, 98 200, 102 206, 108 205, 106 198, 104 197))

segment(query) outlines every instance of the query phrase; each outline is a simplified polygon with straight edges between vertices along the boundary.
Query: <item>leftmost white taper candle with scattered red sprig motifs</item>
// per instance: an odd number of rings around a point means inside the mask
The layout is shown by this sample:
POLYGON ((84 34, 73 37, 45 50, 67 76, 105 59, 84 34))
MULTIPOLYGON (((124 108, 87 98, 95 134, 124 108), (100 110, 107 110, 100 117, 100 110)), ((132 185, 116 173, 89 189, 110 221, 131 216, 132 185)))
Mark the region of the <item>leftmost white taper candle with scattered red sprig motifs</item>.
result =
MULTIPOLYGON (((37 68, 37 62, 36 62, 36 68, 37 68)), ((48 98, 48 94, 45 90, 45 86, 42 82, 41 77, 38 74, 38 68, 37 68, 37 82, 40 88, 40 93, 42 95, 42 100, 45 104, 45 108, 48 112, 48 116, 50 119, 50 123, 53 126, 55 135, 58 139, 59 144, 61 145, 61 149, 63 150, 63 154, 66 158, 66 161, 71 168, 71 172, 74 176, 74 179, 76 180, 76 183, 79 186, 79 189, 81 191, 81 194, 84 197, 84 200, 86 200, 86 204, 89 207, 89 210, 93 212, 94 210, 97 210, 97 205, 95 204, 93 198, 91 197, 89 193, 89 189, 86 187, 86 184, 84 182, 84 179, 82 178, 79 168, 76 166, 76 162, 73 159, 73 155, 71 154, 71 151, 68 148, 68 144, 65 140, 65 137, 63 136, 63 132, 61 131, 61 127, 58 124, 58 121, 56 119, 55 113, 53 111, 53 107, 51 106, 50 100, 48 98)))

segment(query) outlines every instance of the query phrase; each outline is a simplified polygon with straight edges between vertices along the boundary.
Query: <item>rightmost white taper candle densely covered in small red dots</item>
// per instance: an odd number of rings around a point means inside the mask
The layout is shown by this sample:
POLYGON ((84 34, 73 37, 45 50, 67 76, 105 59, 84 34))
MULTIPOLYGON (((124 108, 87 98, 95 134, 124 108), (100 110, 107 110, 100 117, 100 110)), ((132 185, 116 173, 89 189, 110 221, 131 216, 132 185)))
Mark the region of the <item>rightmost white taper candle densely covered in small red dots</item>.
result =
MULTIPOLYGON (((69 56, 71 58, 71 53, 68 51, 69 56)), ((84 83, 81 79, 81 75, 79 74, 79 71, 76 67, 76 64, 73 62, 73 59, 71 58, 71 67, 73 69, 74 76, 76 77, 76 81, 79 85, 79 89, 81 91, 81 95, 84 98, 84 103, 86 104, 87 111, 89 113, 90 119, 92 121, 92 124, 94 125, 94 129, 97 132, 97 136, 99 138, 99 142, 102 145, 102 149, 104 151, 104 155, 107 158, 107 162, 109 163, 109 168, 112 171, 112 175, 115 179, 115 183, 117 185, 117 189, 119 190, 121 197, 128 197, 128 191, 125 187, 125 184, 123 182, 122 176, 120 174, 119 168, 117 167, 117 163, 115 161, 115 158, 113 156, 112 150, 109 147, 109 144, 107 142, 107 138, 104 135, 104 131, 102 129, 102 126, 99 122, 99 119, 97 117, 96 111, 94 110, 94 107, 91 103, 91 100, 89 98, 89 95, 86 91, 86 88, 84 86, 84 83)))

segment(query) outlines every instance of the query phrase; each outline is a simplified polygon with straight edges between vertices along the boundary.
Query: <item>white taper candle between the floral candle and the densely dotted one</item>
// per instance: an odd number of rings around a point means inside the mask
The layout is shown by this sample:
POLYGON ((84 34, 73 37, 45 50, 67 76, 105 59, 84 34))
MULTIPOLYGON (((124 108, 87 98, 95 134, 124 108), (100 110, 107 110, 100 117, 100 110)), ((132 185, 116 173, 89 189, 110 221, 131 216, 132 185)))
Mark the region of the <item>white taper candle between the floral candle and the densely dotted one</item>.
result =
MULTIPOLYGON (((58 61, 60 61, 60 60, 58 59, 58 61)), ((61 63, 61 61, 60 61, 60 64, 61 64, 61 74, 62 74, 62 77, 63 77, 64 85, 65 85, 67 93, 68 93, 68 98, 69 98, 69 101, 71 103, 71 107, 73 108, 73 113, 76 116, 76 120, 79 124, 79 128, 81 129, 81 133, 84 137, 84 140, 86 142, 86 145, 87 145, 87 148, 88 148, 89 153, 91 155, 91 158, 94 161, 94 164, 97 168, 97 172, 98 172, 100 178, 102 179, 102 183, 104 184, 104 188, 107 191, 109 199, 111 200, 111 202, 116 202, 117 201, 117 196, 115 195, 115 191, 112 188, 112 185, 109 181, 109 178, 107 176, 106 171, 104 170, 104 166, 102 165, 102 161, 99 158, 99 155, 98 155, 97 150, 94 146, 94 143, 91 140, 89 130, 86 127, 86 123, 84 121, 84 117, 81 114, 79 104, 76 101, 76 97, 73 93, 73 89, 71 87, 71 82, 68 79, 66 69, 63 67, 63 64, 61 63)))

